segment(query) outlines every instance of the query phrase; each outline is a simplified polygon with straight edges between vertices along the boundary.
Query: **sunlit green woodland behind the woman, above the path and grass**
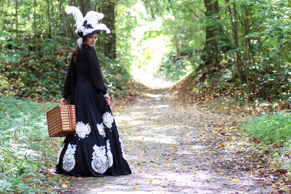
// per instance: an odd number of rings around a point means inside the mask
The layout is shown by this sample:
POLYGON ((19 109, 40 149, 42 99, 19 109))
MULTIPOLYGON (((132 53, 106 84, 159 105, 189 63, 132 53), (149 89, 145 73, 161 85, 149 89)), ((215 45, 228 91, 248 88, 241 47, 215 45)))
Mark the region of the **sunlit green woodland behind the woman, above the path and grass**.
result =
POLYGON ((77 39, 73 17, 64 12, 68 5, 105 14, 101 22, 113 33, 101 33, 96 49, 112 91, 130 78, 131 65, 155 63, 161 48, 151 41, 163 40, 156 72, 165 78, 202 72, 199 86, 215 83, 213 92, 290 103, 289 0, 1 0, 3 94, 40 99, 60 93, 77 39))

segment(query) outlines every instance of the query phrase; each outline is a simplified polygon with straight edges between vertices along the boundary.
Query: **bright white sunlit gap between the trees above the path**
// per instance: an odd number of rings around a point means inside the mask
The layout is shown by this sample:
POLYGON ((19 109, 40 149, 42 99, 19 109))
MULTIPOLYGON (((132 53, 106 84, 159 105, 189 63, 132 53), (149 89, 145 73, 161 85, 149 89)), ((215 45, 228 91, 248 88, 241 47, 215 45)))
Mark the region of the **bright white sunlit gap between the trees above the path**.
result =
MULTIPOLYGON (((144 9, 144 7, 140 9, 144 9)), ((131 46, 134 48, 131 54, 135 56, 135 60, 132 62, 133 77, 135 80, 152 88, 170 87, 174 84, 171 81, 159 79, 155 75, 162 62, 162 56, 170 49, 167 46, 170 38, 157 34, 152 38, 146 37, 149 35, 147 32, 160 32, 161 27, 161 18, 157 18, 155 21, 140 19, 140 26, 131 32, 131 46)))

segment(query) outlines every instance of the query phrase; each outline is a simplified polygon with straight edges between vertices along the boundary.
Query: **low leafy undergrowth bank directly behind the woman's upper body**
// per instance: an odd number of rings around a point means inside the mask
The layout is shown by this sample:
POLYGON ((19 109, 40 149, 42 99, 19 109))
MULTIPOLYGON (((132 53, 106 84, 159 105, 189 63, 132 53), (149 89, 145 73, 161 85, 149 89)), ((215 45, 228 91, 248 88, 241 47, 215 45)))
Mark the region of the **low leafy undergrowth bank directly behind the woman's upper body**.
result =
MULTIPOLYGON (((32 38, 29 44, 23 42, 18 46, 19 49, 15 49, 21 57, 16 63, 4 62, 5 66, 1 71, 6 83, 0 87, 4 94, 39 100, 61 97, 70 62, 68 53, 75 46, 63 46, 66 45, 67 38, 54 38, 58 39, 58 44, 55 44, 54 39, 32 38)), ((116 97, 124 95, 122 89, 127 90, 124 83, 131 77, 129 66, 109 60, 102 53, 97 53, 97 56, 110 94, 116 97)))

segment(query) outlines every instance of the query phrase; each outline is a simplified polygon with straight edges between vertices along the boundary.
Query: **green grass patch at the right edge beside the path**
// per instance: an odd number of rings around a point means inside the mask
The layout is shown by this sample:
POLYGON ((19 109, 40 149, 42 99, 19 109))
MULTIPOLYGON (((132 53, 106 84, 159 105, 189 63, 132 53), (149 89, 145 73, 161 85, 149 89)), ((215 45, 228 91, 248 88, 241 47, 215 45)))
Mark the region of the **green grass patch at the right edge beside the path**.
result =
MULTIPOLYGON (((291 114, 271 113, 248 118, 241 124, 243 132, 256 142, 258 153, 263 153, 269 170, 291 175, 291 114)), ((290 179, 288 180, 290 181, 290 179)))

